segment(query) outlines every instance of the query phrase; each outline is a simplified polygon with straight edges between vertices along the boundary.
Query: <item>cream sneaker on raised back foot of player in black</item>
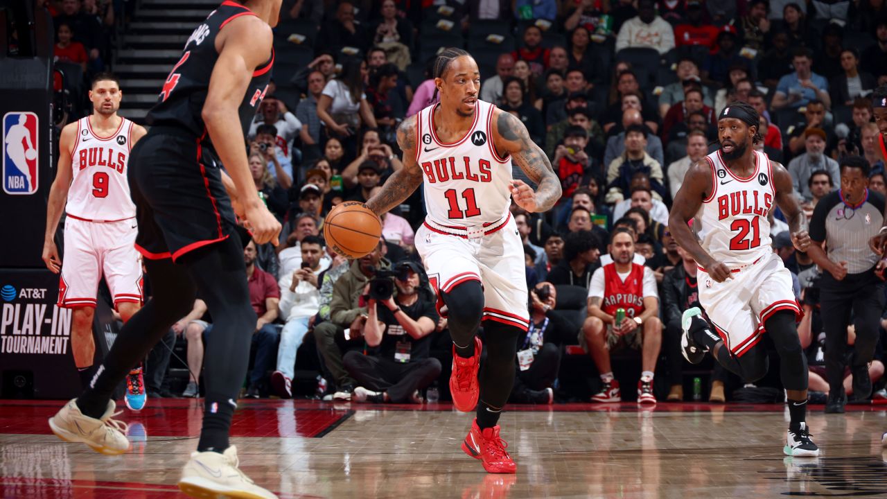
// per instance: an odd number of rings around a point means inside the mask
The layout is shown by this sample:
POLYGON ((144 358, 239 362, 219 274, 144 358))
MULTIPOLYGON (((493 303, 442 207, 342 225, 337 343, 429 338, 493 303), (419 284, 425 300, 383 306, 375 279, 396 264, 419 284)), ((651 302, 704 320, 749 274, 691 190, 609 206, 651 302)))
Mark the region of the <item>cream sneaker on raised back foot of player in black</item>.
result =
POLYGON ((122 421, 111 419, 117 405, 108 400, 108 408, 99 419, 85 416, 71 399, 55 416, 50 418, 50 428, 61 440, 83 442, 92 450, 107 455, 123 454, 130 450, 130 440, 126 439, 129 426, 122 421))

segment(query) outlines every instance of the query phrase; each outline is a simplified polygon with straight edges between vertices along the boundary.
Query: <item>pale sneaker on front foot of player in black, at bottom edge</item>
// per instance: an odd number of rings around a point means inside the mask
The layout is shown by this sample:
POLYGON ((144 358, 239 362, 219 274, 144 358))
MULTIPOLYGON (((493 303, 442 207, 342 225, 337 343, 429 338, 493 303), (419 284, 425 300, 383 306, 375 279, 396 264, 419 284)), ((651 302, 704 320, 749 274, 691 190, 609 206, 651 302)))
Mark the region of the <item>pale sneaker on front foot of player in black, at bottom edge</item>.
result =
POLYGON ((238 468, 237 448, 231 446, 224 454, 192 452, 191 460, 182 469, 178 488, 191 497, 232 497, 234 499, 278 499, 277 495, 255 485, 238 468))

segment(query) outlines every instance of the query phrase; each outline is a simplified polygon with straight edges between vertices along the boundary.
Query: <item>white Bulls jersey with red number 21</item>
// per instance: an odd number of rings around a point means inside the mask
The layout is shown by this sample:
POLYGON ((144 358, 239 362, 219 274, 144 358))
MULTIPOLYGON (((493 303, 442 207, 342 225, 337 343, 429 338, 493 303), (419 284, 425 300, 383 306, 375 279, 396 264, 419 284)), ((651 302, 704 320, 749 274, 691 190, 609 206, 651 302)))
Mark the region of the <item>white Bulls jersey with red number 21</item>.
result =
POLYGON ((767 214, 776 191, 770 159, 754 152, 755 172, 740 178, 726 167, 720 150, 705 160, 711 168, 711 195, 696 214, 703 249, 731 268, 751 265, 773 252, 767 214))

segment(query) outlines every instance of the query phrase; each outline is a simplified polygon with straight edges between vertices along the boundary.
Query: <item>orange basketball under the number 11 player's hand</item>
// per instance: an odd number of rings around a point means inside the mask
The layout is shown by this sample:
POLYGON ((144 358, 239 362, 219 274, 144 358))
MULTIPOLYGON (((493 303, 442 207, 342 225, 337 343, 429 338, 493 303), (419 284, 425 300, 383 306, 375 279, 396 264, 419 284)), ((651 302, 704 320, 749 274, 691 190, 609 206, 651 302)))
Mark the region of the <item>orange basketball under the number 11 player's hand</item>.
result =
POLYGON ((326 244, 346 258, 363 257, 373 251, 381 235, 381 220, 363 202, 342 202, 324 221, 326 244))

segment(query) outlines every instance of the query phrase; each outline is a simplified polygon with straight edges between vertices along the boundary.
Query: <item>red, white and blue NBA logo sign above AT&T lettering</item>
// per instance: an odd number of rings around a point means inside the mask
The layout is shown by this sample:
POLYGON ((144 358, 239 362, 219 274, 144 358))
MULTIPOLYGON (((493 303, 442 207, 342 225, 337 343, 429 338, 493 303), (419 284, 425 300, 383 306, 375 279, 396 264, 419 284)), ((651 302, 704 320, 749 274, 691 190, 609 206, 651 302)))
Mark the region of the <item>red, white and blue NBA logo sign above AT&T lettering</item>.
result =
POLYGON ((3 117, 3 190, 6 194, 37 192, 37 115, 6 113, 3 117))

